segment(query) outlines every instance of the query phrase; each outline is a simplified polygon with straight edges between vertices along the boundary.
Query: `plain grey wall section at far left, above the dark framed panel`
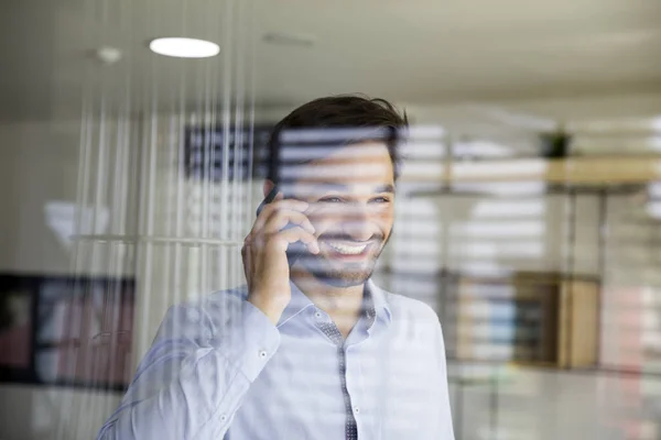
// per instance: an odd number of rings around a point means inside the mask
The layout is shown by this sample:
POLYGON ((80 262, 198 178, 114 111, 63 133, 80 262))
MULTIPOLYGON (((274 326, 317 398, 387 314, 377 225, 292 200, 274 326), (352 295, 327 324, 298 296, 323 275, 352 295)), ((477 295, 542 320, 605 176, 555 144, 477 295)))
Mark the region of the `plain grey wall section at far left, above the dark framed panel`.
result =
POLYGON ((48 228, 46 205, 75 202, 79 129, 74 122, 0 124, 3 272, 65 273, 71 254, 48 228))

